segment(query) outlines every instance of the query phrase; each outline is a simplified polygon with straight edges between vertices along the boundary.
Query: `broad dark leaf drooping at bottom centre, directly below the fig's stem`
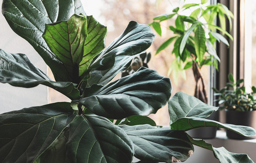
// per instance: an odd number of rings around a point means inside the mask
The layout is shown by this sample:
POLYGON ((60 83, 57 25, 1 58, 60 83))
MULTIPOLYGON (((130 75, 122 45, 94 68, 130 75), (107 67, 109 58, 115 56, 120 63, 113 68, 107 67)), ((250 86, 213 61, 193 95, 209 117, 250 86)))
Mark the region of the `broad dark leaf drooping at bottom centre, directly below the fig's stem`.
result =
POLYGON ((66 144, 70 162, 131 162, 133 144, 125 131, 104 117, 77 116, 66 144))

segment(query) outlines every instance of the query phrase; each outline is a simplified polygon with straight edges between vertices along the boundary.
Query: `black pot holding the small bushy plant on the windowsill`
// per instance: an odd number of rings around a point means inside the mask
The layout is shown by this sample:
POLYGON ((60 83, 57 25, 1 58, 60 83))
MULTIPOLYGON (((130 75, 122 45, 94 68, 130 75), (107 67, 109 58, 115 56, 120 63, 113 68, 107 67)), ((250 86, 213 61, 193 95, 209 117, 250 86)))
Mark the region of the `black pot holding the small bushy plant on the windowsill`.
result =
MULTIPOLYGON (((232 125, 241 125, 241 126, 250 126, 256 129, 256 111, 248 111, 248 112, 239 112, 239 111, 226 111, 226 123, 232 125)), ((245 137, 233 131, 227 130, 227 137, 229 139, 255 139, 256 136, 253 137, 245 137)))

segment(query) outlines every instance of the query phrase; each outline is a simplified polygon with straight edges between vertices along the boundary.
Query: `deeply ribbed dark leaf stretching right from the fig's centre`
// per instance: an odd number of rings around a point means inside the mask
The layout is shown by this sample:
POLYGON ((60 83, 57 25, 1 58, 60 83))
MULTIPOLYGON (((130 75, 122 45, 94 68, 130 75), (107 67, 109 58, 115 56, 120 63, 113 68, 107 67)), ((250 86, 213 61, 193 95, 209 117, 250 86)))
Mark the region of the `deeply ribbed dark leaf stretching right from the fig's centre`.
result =
POLYGON ((94 114, 112 119, 156 113, 169 100, 170 79, 155 70, 141 67, 136 73, 108 85, 94 84, 78 102, 94 114))

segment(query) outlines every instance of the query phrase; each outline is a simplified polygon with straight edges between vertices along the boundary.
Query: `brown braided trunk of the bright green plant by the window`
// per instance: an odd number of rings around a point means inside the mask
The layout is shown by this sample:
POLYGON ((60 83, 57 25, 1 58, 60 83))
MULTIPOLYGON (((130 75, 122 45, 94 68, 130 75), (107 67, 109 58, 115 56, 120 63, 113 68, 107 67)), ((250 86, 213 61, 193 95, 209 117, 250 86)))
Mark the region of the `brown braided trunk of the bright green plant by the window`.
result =
POLYGON ((194 96, 207 104, 208 96, 206 93, 206 84, 205 84, 204 76, 196 62, 193 62, 192 69, 193 69, 193 74, 196 80, 196 88, 195 88, 194 96))

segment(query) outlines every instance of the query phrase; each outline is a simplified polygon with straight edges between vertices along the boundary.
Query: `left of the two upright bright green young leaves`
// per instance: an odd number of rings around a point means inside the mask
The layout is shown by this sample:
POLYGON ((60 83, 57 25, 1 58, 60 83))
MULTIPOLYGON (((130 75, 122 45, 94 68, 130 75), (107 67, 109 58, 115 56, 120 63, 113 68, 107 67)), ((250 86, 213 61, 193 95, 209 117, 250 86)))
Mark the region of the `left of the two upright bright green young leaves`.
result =
POLYGON ((83 58, 87 36, 86 16, 74 14, 68 21, 45 25, 42 37, 60 58, 72 79, 78 78, 78 66, 83 58))

